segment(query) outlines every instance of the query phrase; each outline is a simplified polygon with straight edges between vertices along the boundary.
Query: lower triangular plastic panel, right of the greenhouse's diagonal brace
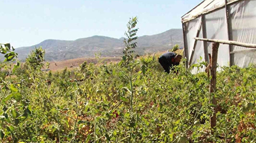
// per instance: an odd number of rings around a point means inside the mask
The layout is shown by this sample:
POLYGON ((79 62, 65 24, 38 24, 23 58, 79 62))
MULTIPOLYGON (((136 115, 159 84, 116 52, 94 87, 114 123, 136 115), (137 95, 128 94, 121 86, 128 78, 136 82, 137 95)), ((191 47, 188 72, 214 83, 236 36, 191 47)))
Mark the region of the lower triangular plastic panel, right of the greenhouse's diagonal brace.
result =
MULTIPOLYGON (((200 30, 199 37, 200 38, 203 37, 202 28, 200 30)), ((205 57, 204 57, 204 42, 203 41, 197 41, 191 65, 197 64, 198 61, 201 62, 200 61, 200 56, 202 57, 201 61, 205 61, 205 57)), ((205 70, 205 66, 203 66, 202 68, 198 68, 198 69, 195 67, 195 68, 193 68, 193 70, 191 72, 195 74, 195 73, 198 73, 198 72, 204 72, 204 70, 205 70)))

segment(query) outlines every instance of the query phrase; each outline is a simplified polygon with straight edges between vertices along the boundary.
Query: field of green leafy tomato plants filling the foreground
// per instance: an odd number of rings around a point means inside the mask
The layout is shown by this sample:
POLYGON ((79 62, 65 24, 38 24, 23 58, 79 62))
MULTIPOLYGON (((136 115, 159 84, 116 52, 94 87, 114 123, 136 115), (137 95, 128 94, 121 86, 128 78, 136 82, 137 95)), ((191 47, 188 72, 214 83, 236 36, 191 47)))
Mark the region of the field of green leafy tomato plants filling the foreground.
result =
POLYGON ((183 63, 169 75, 152 56, 54 73, 41 71, 40 60, 25 65, 1 81, 3 143, 256 141, 255 65, 218 73, 214 129, 210 78, 183 63))

